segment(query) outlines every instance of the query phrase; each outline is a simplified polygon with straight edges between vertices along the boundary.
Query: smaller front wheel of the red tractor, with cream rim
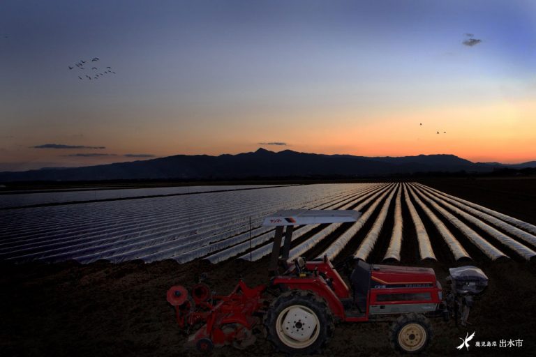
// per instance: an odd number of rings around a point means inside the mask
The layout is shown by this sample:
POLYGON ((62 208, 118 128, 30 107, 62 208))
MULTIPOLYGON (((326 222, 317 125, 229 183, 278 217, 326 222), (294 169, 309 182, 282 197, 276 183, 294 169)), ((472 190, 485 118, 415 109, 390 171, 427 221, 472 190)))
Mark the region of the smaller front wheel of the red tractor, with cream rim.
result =
POLYGON ((431 338, 430 322, 415 312, 402 315, 391 327, 391 344, 403 353, 419 354, 428 347, 431 338))

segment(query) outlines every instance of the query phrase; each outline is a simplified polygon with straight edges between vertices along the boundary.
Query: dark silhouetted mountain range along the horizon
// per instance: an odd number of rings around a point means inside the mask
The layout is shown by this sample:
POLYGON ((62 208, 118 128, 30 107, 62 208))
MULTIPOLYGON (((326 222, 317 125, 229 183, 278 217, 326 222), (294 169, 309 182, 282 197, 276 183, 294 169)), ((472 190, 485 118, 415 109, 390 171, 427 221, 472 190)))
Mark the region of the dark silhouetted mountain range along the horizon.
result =
POLYGON ((87 167, 55 167, 0 172, 0 182, 140 179, 248 179, 258 177, 386 176, 415 172, 491 172, 536 167, 536 161, 507 165, 471 162, 456 155, 364 157, 258 149, 237 155, 173 155, 165 158, 87 167))

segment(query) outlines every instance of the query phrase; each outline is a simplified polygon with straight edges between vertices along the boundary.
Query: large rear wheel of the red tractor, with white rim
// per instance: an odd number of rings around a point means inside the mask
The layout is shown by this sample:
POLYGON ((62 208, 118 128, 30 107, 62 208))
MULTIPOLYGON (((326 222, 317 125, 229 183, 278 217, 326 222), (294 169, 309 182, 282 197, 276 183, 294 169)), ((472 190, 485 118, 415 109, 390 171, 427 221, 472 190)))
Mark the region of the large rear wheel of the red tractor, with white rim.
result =
POLYGON ((313 354, 334 331, 333 315, 311 291, 292 290, 272 301, 266 314, 268 339, 287 354, 313 354))

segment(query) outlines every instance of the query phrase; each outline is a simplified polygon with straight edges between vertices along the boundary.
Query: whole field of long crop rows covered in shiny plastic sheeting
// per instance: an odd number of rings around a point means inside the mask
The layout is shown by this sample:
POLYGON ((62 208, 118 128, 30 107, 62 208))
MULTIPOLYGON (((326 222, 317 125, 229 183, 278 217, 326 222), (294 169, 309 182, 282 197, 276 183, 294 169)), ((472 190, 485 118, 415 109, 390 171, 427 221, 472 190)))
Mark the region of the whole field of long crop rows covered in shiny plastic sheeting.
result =
MULTIPOLYGON (((170 188, 169 192, 177 191, 170 188)), ((91 192, 82 192, 80 197, 84 195, 91 192)), ((291 258, 315 257, 323 250, 318 257, 337 259, 343 250, 354 253, 359 246, 355 253, 362 259, 404 262, 413 259, 414 253, 404 257, 407 250, 403 248, 415 240, 404 234, 415 227, 421 259, 435 259, 435 255, 450 259, 439 254, 443 246, 455 260, 470 258, 469 248, 472 255, 493 260, 507 257, 505 252, 512 252, 514 259, 536 259, 536 227, 528 222, 419 183, 349 183, 3 208, 0 261, 258 260, 271 252, 274 236, 273 227, 262 227, 262 218, 292 208, 355 209, 363 214, 353 224, 295 227, 291 258), (387 219, 391 204, 392 220, 387 219), (365 234, 362 229, 368 224, 371 229, 365 234), (380 231, 390 237, 388 247, 378 244, 380 231)))

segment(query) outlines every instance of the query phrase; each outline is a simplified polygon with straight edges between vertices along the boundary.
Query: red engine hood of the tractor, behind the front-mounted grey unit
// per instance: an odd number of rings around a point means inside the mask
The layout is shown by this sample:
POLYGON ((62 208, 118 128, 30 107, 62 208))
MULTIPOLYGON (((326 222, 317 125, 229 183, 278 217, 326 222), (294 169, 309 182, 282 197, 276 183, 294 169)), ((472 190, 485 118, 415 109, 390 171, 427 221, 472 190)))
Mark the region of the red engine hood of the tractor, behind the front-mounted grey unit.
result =
POLYGON ((432 268, 408 266, 373 265, 371 280, 374 285, 393 285, 405 287, 435 286, 435 273, 432 268), (408 286, 410 285, 410 286, 408 286))

